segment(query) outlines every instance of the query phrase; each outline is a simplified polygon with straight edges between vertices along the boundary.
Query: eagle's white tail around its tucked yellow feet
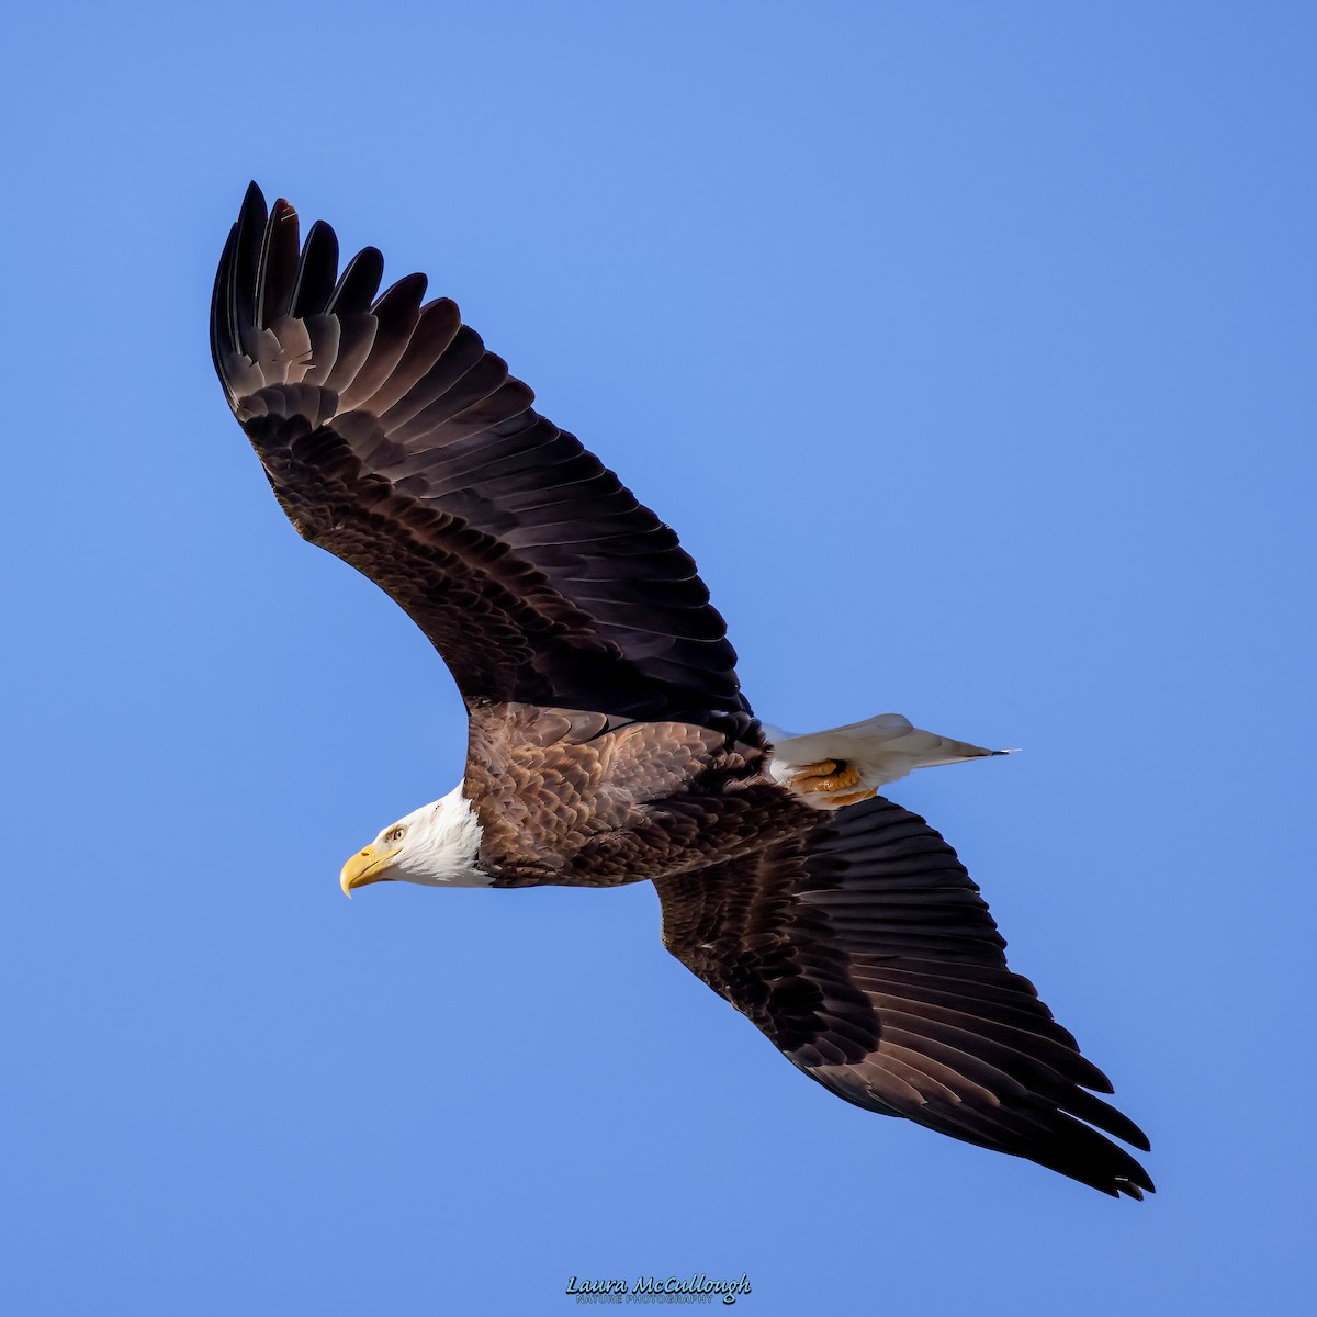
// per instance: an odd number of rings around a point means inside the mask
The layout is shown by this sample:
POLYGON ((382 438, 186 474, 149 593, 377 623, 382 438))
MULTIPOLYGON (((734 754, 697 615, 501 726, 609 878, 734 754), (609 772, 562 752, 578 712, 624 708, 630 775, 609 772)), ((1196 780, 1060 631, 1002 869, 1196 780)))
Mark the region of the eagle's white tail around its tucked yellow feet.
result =
POLYGON ((844 801, 838 797, 853 799, 856 792, 876 792, 915 768, 961 764, 988 755, 1011 753, 921 731, 900 714, 878 714, 863 723, 848 723, 846 727, 807 732, 803 736, 793 736, 768 726, 764 731, 773 743, 769 774, 784 786, 793 788, 807 805, 822 810, 839 809, 844 801), (853 768, 860 774, 859 782, 835 792, 805 792, 795 786, 794 780, 802 768, 826 760, 853 768))

